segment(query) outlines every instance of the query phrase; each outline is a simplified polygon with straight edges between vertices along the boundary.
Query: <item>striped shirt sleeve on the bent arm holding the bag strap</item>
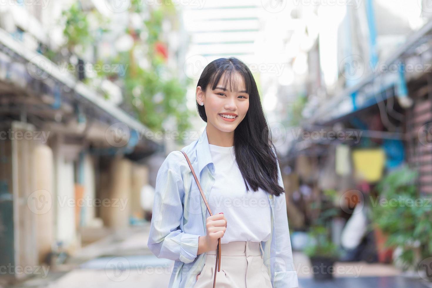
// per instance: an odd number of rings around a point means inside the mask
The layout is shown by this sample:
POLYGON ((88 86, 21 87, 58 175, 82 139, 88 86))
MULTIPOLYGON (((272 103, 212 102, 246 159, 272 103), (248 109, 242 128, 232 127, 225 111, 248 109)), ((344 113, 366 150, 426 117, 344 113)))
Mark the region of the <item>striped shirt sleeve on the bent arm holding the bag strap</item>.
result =
POLYGON ((197 257, 200 235, 187 234, 180 229, 184 188, 178 173, 179 157, 175 152, 171 152, 156 176, 147 246, 158 258, 191 263, 197 257))

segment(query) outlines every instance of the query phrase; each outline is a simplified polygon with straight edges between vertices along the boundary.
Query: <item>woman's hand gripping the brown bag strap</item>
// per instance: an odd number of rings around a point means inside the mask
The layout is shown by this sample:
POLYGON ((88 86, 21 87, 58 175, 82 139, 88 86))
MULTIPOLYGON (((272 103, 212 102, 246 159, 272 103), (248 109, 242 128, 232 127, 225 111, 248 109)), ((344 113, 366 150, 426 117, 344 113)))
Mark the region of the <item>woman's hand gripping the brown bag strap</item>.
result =
POLYGON ((211 250, 215 250, 218 244, 218 239, 223 237, 226 231, 226 218, 223 213, 209 216, 206 219, 206 236, 200 236, 198 241, 198 253, 201 254, 211 250))

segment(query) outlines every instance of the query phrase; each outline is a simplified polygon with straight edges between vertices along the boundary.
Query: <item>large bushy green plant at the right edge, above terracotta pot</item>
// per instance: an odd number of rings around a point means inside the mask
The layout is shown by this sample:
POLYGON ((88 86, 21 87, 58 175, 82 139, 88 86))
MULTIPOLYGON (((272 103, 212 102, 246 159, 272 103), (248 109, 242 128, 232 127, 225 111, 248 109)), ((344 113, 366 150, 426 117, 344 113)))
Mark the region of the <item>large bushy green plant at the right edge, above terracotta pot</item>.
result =
POLYGON ((430 196, 419 195, 417 177, 418 172, 407 166, 393 170, 376 186, 377 199, 371 199, 372 221, 388 235, 386 246, 402 249, 405 269, 416 269, 419 257, 432 255, 432 203, 430 196), (415 247, 419 247, 419 257, 415 247))

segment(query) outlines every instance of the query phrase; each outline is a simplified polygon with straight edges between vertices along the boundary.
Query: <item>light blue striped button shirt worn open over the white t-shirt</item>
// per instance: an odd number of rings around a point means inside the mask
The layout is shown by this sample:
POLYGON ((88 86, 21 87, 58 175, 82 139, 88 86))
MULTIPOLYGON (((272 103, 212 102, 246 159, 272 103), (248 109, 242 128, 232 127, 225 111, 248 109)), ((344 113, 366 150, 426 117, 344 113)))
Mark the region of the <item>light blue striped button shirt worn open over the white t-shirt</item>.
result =
MULTIPOLYGON (((198 140, 181 149, 186 152, 209 199, 214 183, 206 129, 198 140)), ((278 163, 279 185, 283 187, 278 163)), ((292 261, 285 194, 267 194, 271 207, 271 235, 261 241, 264 264, 273 288, 298 287, 292 261), (276 221, 275 221, 276 220, 276 221)), ((213 211, 212 211, 213 212, 213 211)), ((156 177, 156 194, 147 245, 158 258, 175 260, 168 288, 192 288, 204 267, 207 253, 198 252, 198 238, 206 234, 206 205, 186 158, 180 151, 168 154, 156 177)), ((216 277, 217 286, 217 277, 216 277)))

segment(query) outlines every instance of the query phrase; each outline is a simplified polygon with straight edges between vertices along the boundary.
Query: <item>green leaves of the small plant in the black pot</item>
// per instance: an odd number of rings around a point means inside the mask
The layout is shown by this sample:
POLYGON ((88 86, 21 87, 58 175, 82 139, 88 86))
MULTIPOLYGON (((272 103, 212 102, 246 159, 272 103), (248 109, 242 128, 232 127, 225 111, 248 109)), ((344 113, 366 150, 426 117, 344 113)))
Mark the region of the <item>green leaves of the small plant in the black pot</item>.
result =
POLYGON ((310 243, 305 247, 305 254, 312 257, 326 257, 335 259, 339 256, 337 246, 330 241, 329 232, 324 226, 311 227, 309 231, 310 243))

